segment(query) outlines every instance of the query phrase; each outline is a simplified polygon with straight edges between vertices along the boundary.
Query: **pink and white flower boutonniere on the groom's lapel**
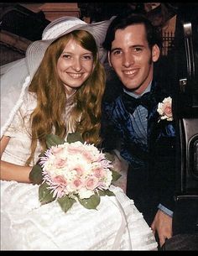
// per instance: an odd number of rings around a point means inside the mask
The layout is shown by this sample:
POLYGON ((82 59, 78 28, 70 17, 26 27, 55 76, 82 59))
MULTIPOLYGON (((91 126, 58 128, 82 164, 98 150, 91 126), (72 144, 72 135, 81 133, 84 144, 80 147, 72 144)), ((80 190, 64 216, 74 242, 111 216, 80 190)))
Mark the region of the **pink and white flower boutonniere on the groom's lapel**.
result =
POLYGON ((173 121, 172 98, 166 97, 163 102, 159 102, 157 111, 159 112, 159 121, 165 119, 173 121))

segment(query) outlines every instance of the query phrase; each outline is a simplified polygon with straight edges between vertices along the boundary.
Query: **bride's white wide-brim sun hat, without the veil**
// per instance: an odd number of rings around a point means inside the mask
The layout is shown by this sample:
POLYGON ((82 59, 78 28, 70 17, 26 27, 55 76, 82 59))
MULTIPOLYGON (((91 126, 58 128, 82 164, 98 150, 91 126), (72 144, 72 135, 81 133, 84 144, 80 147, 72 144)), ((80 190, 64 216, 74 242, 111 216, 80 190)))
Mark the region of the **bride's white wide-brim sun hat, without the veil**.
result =
POLYGON ((49 45, 65 34, 69 34, 74 30, 86 30, 91 33, 96 40, 96 44, 99 50, 99 60, 104 60, 105 50, 102 50, 102 43, 105 39, 107 28, 111 20, 105 20, 98 23, 86 24, 80 18, 65 16, 55 19, 45 29, 42 34, 42 40, 34 41, 29 45, 26 51, 26 59, 29 67, 29 75, 32 78, 35 71, 39 68, 39 65, 44 57, 44 53, 49 45))

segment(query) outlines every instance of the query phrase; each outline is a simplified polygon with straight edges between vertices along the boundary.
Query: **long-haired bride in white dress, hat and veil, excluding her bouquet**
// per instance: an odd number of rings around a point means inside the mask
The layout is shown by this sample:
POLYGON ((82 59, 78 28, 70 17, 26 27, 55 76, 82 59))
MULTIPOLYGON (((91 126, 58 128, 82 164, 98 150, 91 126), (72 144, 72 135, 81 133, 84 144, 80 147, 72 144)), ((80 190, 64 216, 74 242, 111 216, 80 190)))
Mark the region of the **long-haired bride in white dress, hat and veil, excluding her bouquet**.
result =
POLYGON ((1 67, 1 250, 157 250, 141 212, 122 188, 95 209, 41 205, 29 179, 45 136, 79 132, 100 147, 105 71, 101 45, 110 21, 58 18, 26 57, 1 67), (98 49, 102 55, 98 55, 98 49))

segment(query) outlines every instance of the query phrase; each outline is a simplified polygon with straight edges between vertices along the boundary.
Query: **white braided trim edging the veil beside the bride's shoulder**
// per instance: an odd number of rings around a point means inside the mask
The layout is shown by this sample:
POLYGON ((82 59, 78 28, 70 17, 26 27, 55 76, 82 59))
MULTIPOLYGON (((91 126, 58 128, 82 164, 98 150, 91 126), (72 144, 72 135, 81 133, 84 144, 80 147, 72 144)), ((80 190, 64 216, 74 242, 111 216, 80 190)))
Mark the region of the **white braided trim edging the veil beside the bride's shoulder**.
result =
POLYGON ((3 134, 5 133, 5 131, 7 130, 10 123, 12 123, 13 117, 16 114, 16 112, 18 111, 18 108, 23 103, 23 96, 24 96, 24 93, 25 93, 25 89, 27 88, 27 86, 29 86, 29 82, 30 82, 30 76, 27 76, 24 83, 23 83, 22 91, 21 91, 20 96, 18 98, 18 102, 13 107, 12 111, 9 113, 9 117, 8 117, 7 122, 3 125, 3 128, 1 128, 1 138, 2 138, 3 134))

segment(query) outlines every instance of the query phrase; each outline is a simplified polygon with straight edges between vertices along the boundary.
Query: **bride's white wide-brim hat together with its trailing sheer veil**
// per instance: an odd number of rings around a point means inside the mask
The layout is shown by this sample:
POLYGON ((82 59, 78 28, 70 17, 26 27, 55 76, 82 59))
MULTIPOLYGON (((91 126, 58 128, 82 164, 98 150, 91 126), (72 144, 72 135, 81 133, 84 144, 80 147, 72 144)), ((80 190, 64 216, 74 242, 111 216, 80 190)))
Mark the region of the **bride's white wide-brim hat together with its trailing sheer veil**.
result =
POLYGON ((39 68, 48 46, 55 39, 71 31, 86 30, 96 39, 99 60, 102 62, 107 55, 107 51, 102 48, 102 43, 111 22, 112 20, 110 19, 94 24, 86 24, 81 19, 71 16, 55 19, 44 29, 41 40, 29 44, 26 56, 23 59, 1 66, 1 137, 23 103, 28 93, 29 83, 35 71, 39 68))

